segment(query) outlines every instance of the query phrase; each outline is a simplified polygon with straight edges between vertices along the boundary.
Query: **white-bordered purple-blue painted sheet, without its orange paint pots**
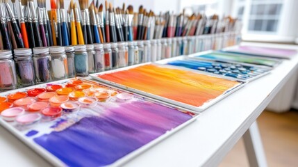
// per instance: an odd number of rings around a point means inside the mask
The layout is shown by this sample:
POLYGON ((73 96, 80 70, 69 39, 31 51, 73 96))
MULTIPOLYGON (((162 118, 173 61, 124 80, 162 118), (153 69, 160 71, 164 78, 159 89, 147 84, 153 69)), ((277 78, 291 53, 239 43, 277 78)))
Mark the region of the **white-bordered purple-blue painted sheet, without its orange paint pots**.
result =
MULTIPOLYGON (((64 87, 67 81, 55 84, 64 87)), ((0 118, 0 124, 54 166, 119 166, 199 116, 117 88, 93 84, 92 90, 108 90, 113 95, 96 106, 81 106, 55 120, 42 119, 34 125, 22 126, 0 118)))

